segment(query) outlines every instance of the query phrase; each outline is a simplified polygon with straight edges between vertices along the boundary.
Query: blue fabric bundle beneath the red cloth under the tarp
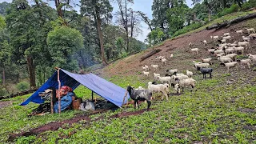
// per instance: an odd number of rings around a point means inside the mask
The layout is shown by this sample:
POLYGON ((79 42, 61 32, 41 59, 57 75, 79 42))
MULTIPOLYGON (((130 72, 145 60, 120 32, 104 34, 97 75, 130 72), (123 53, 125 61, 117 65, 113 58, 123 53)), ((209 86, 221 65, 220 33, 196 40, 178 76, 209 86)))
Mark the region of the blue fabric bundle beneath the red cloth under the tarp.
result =
MULTIPOLYGON (((61 111, 65 110, 72 103, 73 92, 68 92, 61 98, 61 111)), ((54 113, 58 113, 58 101, 54 103, 54 113)))

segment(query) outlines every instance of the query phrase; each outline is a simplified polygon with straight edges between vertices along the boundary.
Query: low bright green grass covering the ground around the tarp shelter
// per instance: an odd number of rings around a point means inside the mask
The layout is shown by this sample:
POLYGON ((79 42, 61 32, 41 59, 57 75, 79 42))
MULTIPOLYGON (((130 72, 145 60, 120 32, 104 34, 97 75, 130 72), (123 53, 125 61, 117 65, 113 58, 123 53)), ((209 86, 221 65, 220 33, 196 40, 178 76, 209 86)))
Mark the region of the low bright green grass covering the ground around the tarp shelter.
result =
MULTIPOLYGON (((197 92, 185 93, 180 96, 170 96, 169 101, 154 100, 151 108, 154 110, 128 118, 110 118, 122 111, 135 111, 133 106, 107 111, 103 114, 90 116, 91 122, 78 122, 65 126, 54 132, 46 131, 38 136, 22 137, 16 143, 254 143, 256 132, 246 130, 244 126, 256 125, 255 113, 240 112, 238 108, 255 109, 255 86, 225 85, 220 76, 213 79, 195 77, 197 92), (248 96, 247 94, 250 94, 248 96), (94 121, 101 117, 102 120, 94 121), (71 135, 70 135, 71 134, 71 135)), ((146 86, 146 80, 134 77, 112 76, 106 78, 110 82, 126 87, 146 86)), ((82 98, 90 98, 90 90, 79 86, 75 93, 82 98)), ((28 95, 23 96, 24 98, 28 95)), ((21 98, 13 98, 12 106, 1 109, 0 128, 1 142, 6 142, 8 134, 42 126, 48 122, 72 118, 81 114, 78 110, 66 111, 46 116, 28 118, 26 114, 36 104, 18 106, 21 98), (16 116, 15 116, 16 115, 16 116), (15 118, 17 117, 17 118, 15 118)), ((146 109, 141 103, 140 109, 146 109)))

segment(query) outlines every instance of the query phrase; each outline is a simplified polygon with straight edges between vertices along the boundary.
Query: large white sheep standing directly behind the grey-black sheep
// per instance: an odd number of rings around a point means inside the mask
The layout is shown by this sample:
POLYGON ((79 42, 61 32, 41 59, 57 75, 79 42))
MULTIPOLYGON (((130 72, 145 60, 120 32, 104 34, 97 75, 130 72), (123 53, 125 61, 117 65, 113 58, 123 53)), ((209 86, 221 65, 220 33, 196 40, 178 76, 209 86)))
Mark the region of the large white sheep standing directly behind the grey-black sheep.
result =
POLYGON ((169 92, 169 88, 166 85, 163 84, 158 84, 158 85, 153 85, 152 82, 148 82, 148 90, 151 92, 162 92, 162 99, 163 96, 166 96, 166 100, 168 100, 168 95, 167 93, 169 92))

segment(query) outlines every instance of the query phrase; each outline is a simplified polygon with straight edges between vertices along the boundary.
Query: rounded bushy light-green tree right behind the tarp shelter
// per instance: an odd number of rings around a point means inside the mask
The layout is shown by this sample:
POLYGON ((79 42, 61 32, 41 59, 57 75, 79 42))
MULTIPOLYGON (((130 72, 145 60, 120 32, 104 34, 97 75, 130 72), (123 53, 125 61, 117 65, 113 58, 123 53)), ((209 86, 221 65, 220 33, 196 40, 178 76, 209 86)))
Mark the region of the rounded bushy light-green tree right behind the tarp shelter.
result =
POLYGON ((47 44, 54 66, 67 70, 75 70, 78 67, 77 62, 70 57, 83 46, 82 34, 78 30, 66 26, 56 27, 48 34, 47 44))

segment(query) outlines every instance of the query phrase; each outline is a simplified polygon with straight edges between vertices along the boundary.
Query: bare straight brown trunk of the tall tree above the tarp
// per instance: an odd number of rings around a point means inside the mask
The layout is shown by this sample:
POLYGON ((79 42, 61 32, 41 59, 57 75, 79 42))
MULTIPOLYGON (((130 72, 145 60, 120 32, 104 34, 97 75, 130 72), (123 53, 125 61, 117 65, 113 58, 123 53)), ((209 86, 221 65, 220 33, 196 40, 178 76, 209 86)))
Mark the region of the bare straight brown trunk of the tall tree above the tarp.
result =
POLYGON ((102 53, 102 64, 103 66, 107 65, 106 58, 105 58, 105 51, 104 51, 104 46, 103 46, 103 38, 102 38, 102 30, 101 30, 101 18, 99 17, 99 8, 96 7, 96 18, 97 18, 97 27, 98 27, 98 38, 99 38, 99 43, 101 46, 101 53, 102 53))

